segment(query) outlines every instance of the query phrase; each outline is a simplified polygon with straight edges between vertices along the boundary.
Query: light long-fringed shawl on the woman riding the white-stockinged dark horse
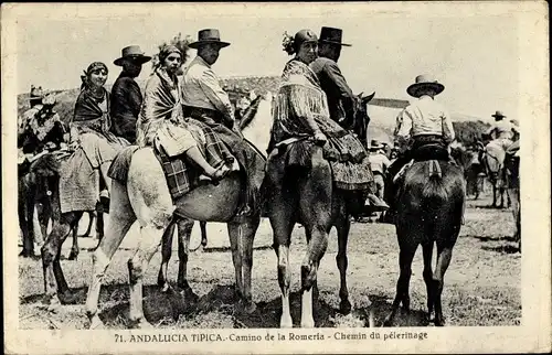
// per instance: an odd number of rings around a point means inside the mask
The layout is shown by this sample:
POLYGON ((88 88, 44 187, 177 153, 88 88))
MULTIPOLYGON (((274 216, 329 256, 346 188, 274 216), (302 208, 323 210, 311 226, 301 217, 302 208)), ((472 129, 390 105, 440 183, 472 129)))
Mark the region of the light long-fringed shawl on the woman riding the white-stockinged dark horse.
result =
POLYGON ((316 74, 298 60, 284 67, 274 107, 275 143, 290 137, 312 136, 307 118, 329 118, 326 94, 316 74))

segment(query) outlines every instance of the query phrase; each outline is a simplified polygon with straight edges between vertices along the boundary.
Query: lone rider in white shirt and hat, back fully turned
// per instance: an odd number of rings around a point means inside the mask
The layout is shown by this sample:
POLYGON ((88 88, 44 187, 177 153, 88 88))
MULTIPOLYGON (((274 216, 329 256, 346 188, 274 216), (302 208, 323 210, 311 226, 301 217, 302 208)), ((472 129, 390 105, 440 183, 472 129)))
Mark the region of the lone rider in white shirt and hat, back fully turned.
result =
MULTIPOLYGON (((418 75, 406 93, 417 98, 396 117, 395 143, 403 152, 389 168, 392 180, 388 181, 389 196, 394 195, 397 181, 404 175, 404 166, 411 161, 412 151, 425 144, 438 144, 448 149, 455 138, 453 121, 448 110, 435 101, 435 96, 443 93, 445 86, 429 75, 418 75)), ((394 198, 389 198, 393 202, 394 198)), ((393 206, 392 206, 393 207, 393 206)))

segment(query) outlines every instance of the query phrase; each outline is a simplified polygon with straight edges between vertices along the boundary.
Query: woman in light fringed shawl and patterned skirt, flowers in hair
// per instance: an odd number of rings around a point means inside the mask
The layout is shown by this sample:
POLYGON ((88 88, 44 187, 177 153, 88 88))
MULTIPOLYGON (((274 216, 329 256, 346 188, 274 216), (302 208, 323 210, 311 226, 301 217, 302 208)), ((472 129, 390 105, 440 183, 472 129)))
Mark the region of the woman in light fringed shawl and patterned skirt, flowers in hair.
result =
POLYGON ((310 30, 285 34, 284 51, 295 56, 287 62, 275 99, 269 151, 280 142, 299 139, 287 150, 287 164, 308 166, 311 138, 322 147, 330 162, 335 185, 341 190, 367 191, 373 184, 368 152, 348 130, 330 119, 326 94, 309 64, 317 57, 318 37, 310 30))

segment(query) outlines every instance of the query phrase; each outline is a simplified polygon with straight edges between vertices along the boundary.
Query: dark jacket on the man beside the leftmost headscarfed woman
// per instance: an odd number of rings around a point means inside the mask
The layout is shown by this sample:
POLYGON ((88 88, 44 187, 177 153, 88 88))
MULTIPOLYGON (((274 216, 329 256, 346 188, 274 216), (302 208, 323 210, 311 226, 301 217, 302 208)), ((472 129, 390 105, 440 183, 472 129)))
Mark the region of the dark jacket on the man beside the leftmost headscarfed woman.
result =
POLYGON ((130 143, 136 141, 136 121, 142 103, 140 87, 125 72, 120 73, 112 88, 112 132, 126 138, 130 143))

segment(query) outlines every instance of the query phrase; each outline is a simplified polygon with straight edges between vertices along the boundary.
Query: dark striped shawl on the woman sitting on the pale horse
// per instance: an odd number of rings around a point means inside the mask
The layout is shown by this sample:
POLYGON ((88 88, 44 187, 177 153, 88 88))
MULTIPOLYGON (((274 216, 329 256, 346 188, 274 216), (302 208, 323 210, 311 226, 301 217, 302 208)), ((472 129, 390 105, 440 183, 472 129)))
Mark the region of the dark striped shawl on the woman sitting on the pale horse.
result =
POLYGON ((180 78, 174 83, 167 71, 158 68, 149 78, 144 94, 144 104, 137 122, 136 142, 150 146, 163 120, 174 123, 183 120, 180 78))

